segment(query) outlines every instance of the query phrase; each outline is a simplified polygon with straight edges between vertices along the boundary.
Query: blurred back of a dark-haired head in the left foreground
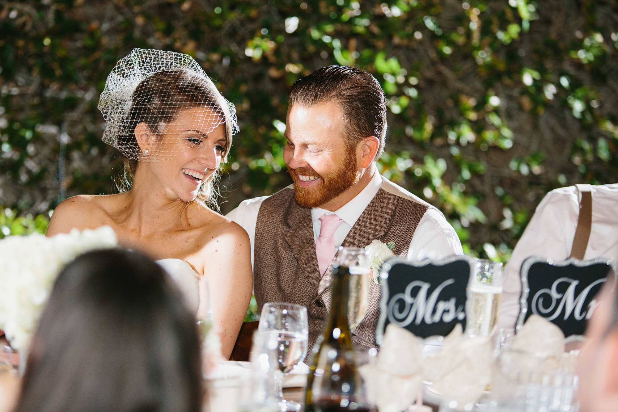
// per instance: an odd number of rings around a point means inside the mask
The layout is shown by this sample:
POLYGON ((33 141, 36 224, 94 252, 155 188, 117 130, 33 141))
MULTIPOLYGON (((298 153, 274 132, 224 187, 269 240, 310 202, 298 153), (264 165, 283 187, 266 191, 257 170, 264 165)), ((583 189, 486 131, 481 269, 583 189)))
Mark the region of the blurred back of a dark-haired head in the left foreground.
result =
POLYGON ((54 284, 15 412, 198 412, 200 340, 173 281, 143 254, 79 256, 54 284))

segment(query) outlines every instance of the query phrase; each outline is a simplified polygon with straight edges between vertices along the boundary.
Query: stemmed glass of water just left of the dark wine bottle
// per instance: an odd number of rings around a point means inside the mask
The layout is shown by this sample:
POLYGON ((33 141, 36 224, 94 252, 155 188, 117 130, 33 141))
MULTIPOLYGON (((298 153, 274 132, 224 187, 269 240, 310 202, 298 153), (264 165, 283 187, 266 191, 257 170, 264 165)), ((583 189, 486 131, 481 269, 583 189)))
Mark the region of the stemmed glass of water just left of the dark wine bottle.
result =
POLYGON ((262 308, 258 331, 276 333, 279 370, 276 379, 277 405, 282 412, 300 410, 300 403, 283 398, 283 377, 307 355, 309 324, 307 308, 294 303, 266 303, 262 308))

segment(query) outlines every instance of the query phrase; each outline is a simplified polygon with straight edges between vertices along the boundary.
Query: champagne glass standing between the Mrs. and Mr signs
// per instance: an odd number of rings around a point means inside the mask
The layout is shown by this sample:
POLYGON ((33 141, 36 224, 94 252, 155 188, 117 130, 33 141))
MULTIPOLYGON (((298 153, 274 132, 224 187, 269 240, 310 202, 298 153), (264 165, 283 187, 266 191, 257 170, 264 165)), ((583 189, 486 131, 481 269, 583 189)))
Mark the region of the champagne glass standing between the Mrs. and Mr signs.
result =
POLYGON ((502 263, 476 259, 468 284, 466 334, 491 336, 496 331, 502 299, 502 263))

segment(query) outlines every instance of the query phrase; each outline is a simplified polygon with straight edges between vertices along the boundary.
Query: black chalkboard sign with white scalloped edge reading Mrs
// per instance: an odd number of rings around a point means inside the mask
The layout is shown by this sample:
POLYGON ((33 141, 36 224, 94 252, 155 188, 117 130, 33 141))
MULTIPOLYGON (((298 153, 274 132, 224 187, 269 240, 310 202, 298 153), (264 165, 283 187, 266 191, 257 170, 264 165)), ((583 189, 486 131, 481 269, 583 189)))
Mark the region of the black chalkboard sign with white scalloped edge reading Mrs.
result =
POLYGON ((446 336, 458 323, 465 329, 466 288, 473 259, 452 256, 441 261, 388 259, 382 265, 380 317, 376 343, 389 323, 418 337, 446 336))

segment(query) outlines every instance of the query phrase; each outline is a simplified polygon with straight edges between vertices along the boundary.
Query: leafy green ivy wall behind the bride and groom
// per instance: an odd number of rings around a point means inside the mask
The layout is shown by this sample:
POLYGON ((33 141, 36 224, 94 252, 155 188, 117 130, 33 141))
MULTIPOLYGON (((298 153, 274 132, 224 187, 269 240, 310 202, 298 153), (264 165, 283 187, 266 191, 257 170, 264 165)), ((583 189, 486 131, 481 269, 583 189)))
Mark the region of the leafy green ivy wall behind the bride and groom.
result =
POLYGON ((547 191, 618 182, 617 30, 616 0, 0 1, 0 237, 114 192, 96 104, 139 47, 190 54, 236 105, 222 212, 290 183, 290 85, 354 65, 389 99, 380 172, 506 260, 547 191))

